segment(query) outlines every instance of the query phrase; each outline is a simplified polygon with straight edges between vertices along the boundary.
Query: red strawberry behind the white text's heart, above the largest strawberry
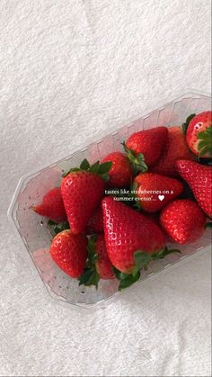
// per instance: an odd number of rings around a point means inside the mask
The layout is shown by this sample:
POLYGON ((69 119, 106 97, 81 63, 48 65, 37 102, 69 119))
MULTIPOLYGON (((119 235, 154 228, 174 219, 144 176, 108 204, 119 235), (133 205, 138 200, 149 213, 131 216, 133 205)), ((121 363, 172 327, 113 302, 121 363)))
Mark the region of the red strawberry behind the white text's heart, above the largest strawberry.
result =
POLYGON ((165 175, 141 173, 134 180, 137 184, 136 197, 142 210, 156 212, 172 199, 181 195, 183 185, 180 181, 165 175))

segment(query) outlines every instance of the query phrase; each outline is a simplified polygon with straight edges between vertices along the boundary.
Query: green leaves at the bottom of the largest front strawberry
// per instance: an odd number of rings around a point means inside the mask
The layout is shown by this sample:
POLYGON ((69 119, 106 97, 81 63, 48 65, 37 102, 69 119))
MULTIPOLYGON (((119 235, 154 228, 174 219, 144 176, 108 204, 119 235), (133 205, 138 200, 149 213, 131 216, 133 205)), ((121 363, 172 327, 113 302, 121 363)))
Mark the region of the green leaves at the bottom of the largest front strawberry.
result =
POLYGON ((122 273, 117 268, 113 267, 114 274, 120 282, 119 291, 128 288, 133 283, 136 283, 137 280, 140 278, 140 270, 147 270, 148 265, 151 261, 163 259, 165 256, 168 256, 173 253, 181 254, 181 251, 178 249, 169 250, 168 247, 164 247, 162 250, 159 250, 154 254, 149 254, 146 253, 146 251, 142 250, 135 251, 133 255, 135 267, 133 268, 131 274, 122 273))

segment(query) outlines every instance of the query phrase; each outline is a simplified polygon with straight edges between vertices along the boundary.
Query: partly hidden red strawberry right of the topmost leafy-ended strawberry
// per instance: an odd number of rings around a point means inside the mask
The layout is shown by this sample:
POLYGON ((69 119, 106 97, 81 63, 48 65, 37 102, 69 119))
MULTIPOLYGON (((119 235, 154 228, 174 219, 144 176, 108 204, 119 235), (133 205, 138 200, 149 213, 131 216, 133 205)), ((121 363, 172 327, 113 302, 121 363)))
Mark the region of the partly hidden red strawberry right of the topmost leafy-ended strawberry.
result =
POLYGON ((181 127, 173 126, 168 129, 168 138, 159 161, 152 167, 151 171, 161 175, 177 176, 175 163, 178 159, 193 160, 185 140, 181 127))

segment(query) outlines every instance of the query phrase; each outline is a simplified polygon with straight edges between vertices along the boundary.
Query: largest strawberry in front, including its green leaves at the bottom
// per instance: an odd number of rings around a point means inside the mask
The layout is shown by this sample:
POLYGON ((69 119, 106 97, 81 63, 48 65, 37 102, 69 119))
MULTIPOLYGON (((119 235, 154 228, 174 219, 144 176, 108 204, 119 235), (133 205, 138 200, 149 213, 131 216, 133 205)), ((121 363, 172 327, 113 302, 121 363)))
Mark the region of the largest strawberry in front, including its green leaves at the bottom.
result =
POLYGON ((106 197, 102 201, 105 243, 119 289, 135 283, 139 270, 150 260, 160 259, 173 252, 167 250, 161 229, 141 213, 106 197))

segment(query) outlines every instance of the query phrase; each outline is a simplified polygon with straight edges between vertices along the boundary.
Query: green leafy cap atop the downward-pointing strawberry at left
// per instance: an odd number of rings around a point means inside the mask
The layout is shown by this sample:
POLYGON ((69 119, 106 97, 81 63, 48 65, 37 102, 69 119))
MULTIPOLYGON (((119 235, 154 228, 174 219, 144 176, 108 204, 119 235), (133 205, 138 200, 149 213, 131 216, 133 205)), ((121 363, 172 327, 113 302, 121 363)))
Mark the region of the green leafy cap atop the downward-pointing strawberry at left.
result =
POLYGON ((112 163, 110 161, 104 162, 102 164, 100 163, 100 161, 96 161, 93 165, 90 165, 88 160, 84 158, 84 160, 81 162, 79 167, 72 167, 62 176, 64 178, 66 175, 69 175, 70 173, 84 171, 87 173, 100 175, 105 182, 108 182, 110 179, 108 173, 110 171, 111 166, 112 166, 112 163))

